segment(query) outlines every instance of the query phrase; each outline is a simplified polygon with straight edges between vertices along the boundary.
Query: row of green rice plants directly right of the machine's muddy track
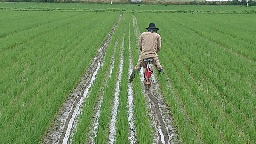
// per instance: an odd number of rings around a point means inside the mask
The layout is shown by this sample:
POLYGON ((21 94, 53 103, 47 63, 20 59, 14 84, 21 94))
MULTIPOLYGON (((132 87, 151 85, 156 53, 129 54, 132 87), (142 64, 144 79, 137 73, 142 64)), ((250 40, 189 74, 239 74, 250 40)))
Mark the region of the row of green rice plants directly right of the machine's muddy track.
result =
MULTIPOLYGON (((151 22, 150 17, 148 17, 145 14, 135 14, 135 16, 138 20, 140 31, 142 32, 145 31, 144 29, 145 26, 147 26, 148 23, 151 22)), ((156 23, 156 26, 158 25, 159 23, 156 23)), ((158 27, 161 28, 160 26, 158 27)), ((159 33, 162 29, 164 28, 161 28, 159 30, 159 33)), ((165 57, 161 57, 161 55, 164 54, 163 49, 165 48, 163 44, 166 42, 164 41, 164 36, 162 36, 162 41, 163 41, 162 50, 161 50, 162 52, 161 51, 159 52, 159 60, 164 67, 164 73, 169 74, 169 76, 170 75, 174 76, 174 77, 170 77, 170 79, 172 80, 172 83, 170 84, 166 81, 164 75, 162 75, 159 78, 164 99, 172 112, 175 125, 178 128, 178 131, 181 133, 181 138, 183 143, 201 143, 202 141, 197 136, 196 131, 193 125, 191 124, 191 120, 188 117, 188 113, 184 110, 182 100, 180 100, 180 96, 184 95, 184 93, 179 93, 177 91, 174 91, 173 88, 170 87, 171 84, 173 85, 177 84, 177 86, 180 86, 180 89, 183 89, 181 87, 182 84, 180 84, 180 79, 177 76, 170 73, 170 69, 172 69, 172 66, 170 65, 169 57, 166 55, 165 57), (163 63, 163 62, 166 62, 166 63, 163 63)))

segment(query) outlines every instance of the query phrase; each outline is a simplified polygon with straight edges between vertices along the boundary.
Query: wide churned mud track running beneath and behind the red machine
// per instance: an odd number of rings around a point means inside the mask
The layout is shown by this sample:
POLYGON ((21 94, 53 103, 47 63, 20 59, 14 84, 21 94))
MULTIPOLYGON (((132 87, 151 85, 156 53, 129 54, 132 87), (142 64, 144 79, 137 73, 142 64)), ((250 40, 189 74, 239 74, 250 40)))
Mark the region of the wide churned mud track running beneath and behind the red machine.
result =
MULTIPOLYGON (((138 44, 138 38, 140 35, 138 23, 136 17, 133 15, 133 27, 134 27, 134 34, 135 40, 138 44), (137 35, 137 36, 136 36, 137 35)), ((138 50, 138 53, 140 51, 138 50)), ((140 70, 140 81, 143 83, 144 81, 144 73, 143 69, 140 70)), ((155 125, 155 129, 158 132, 158 137, 154 138, 153 143, 158 144, 173 144, 173 140, 175 139, 175 143, 179 143, 177 137, 177 131, 173 127, 173 120, 171 117, 171 112, 165 104, 164 98, 160 92, 160 85, 157 83, 155 75, 152 74, 151 80, 153 85, 146 90, 145 86, 143 85, 144 93, 147 95, 149 100, 149 107, 151 109, 151 116, 153 117, 153 125, 155 125), (157 140, 156 140, 157 139, 157 140)))

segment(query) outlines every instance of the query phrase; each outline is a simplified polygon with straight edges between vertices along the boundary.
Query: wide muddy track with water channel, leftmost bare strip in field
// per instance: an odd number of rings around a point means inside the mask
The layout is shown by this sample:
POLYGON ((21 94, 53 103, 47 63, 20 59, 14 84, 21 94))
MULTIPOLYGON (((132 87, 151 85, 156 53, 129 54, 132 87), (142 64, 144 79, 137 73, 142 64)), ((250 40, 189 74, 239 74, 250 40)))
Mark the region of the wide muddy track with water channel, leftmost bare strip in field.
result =
MULTIPOLYGON (((79 110, 80 106, 86 98, 89 88, 91 87, 92 82, 95 79, 98 70, 100 69, 100 66, 104 64, 103 58, 105 56, 107 45, 109 44, 118 23, 121 21, 122 16, 123 15, 121 14, 117 22, 111 28, 102 46, 98 49, 99 53, 95 55, 84 76, 82 76, 80 83, 76 85, 76 88, 74 89, 72 94, 62 105, 58 116, 53 121, 51 127, 47 130, 46 136, 42 139, 41 143, 68 143, 70 131, 73 127, 75 127, 75 120, 81 112, 81 110, 79 110)), ((72 143, 72 141, 70 143, 72 143)))

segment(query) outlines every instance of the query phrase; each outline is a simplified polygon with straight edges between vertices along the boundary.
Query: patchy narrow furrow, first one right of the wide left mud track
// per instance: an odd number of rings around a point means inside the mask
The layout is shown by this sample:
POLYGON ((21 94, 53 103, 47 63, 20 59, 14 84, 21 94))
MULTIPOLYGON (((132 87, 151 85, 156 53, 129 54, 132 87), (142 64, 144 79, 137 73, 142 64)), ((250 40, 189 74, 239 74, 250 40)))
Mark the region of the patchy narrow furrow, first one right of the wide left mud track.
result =
MULTIPOLYGON (((116 43, 114 45, 114 51, 111 57, 111 62, 110 62, 110 68, 109 68, 109 75, 106 78, 107 79, 111 78, 112 72, 113 72, 113 68, 114 68, 114 63, 115 63, 115 53, 116 53, 116 46, 117 46, 117 42, 118 39, 116 40, 116 43)), ((92 124, 92 129, 91 129, 91 135, 90 135, 90 143, 95 144, 94 142, 94 138, 97 137, 97 131, 98 131, 98 126, 99 126, 99 118, 100 118, 100 109, 102 107, 102 103, 103 103, 103 94, 100 95, 100 100, 97 104, 96 107, 96 113, 94 114, 94 120, 93 120, 93 124, 92 124)))

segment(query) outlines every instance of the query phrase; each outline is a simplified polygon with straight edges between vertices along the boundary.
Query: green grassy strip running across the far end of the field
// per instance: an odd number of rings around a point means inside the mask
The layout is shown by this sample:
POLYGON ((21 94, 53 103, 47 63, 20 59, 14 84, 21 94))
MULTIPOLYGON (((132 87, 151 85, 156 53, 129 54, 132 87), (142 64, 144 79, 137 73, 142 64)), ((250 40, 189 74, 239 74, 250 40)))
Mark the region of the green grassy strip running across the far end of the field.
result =
MULTIPOLYGON (((177 2, 176 2, 177 3, 177 2)), ((180 3, 180 2, 179 2, 180 3)), ((0 2, 0 8, 43 8, 43 9, 125 9, 125 10, 193 10, 193 11, 244 11, 254 10, 255 6, 239 5, 164 5, 164 4, 72 4, 72 3, 13 3, 5 4, 0 2)))

